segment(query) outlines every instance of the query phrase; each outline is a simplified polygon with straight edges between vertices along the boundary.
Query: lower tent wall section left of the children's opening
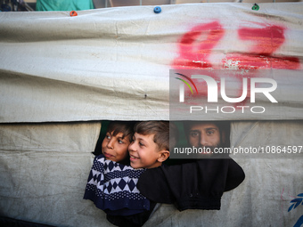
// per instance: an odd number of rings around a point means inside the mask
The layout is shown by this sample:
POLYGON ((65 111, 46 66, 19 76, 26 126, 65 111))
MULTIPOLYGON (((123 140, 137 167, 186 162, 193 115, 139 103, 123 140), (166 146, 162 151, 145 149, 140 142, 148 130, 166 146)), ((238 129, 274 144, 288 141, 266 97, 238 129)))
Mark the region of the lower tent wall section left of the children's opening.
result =
MULTIPOLYGON (((1 125, 0 216, 77 226, 90 205, 83 195, 100 129, 100 123, 1 125)), ((98 216, 92 207, 88 213, 98 216)), ((92 226, 89 220, 82 226, 92 226)))

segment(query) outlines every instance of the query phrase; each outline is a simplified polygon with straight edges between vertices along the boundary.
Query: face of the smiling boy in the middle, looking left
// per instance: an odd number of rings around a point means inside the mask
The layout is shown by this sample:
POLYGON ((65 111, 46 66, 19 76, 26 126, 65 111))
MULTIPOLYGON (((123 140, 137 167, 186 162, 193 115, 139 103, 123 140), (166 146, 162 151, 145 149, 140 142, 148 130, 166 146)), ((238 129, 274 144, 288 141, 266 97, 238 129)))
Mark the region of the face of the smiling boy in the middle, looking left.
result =
POLYGON ((133 142, 128 147, 130 166, 133 168, 153 168, 161 165, 158 161, 160 150, 153 142, 154 134, 134 134, 133 142))

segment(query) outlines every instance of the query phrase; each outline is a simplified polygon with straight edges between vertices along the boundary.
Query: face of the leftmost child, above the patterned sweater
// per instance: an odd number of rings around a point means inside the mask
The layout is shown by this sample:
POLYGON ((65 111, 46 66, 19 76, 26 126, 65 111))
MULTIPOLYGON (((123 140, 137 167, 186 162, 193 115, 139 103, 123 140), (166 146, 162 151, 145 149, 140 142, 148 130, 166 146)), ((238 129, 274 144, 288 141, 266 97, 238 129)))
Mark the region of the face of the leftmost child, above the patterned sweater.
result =
POLYGON ((102 142, 102 154, 106 159, 120 162, 127 158, 129 136, 123 138, 123 134, 116 135, 113 132, 107 132, 102 142))

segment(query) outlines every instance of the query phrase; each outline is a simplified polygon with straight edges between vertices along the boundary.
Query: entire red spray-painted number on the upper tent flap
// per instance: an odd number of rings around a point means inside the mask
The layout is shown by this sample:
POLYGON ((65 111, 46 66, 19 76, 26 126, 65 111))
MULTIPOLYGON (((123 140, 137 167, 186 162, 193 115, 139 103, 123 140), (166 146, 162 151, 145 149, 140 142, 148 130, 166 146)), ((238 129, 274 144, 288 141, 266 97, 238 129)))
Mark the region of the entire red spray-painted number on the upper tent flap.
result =
MULTIPOLYGON (((214 54, 214 48, 225 37, 225 29, 217 21, 203 23, 194 26, 184 34, 178 43, 178 57, 173 61, 173 69, 300 69, 300 61, 297 57, 276 54, 277 50, 285 43, 285 30, 282 26, 273 24, 255 23, 261 28, 239 28, 239 42, 248 42, 246 53, 226 53, 221 62, 211 62, 210 56, 214 54)), ((239 73, 235 77, 242 83, 243 77, 258 77, 257 71, 250 74, 239 73)), ((188 72, 190 77, 191 71, 188 72)), ((220 75, 214 72, 215 80, 220 75)), ((199 87, 201 96, 207 95, 207 85, 204 81, 195 82, 199 87)), ((240 86, 242 87, 242 86, 240 86)), ((220 84, 218 84, 218 91, 220 84)), ((185 90, 186 95, 190 91, 185 90)), ((242 94, 242 88, 236 93, 242 94)), ((248 95, 241 103, 245 105, 250 98, 250 80, 248 80, 248 95)))

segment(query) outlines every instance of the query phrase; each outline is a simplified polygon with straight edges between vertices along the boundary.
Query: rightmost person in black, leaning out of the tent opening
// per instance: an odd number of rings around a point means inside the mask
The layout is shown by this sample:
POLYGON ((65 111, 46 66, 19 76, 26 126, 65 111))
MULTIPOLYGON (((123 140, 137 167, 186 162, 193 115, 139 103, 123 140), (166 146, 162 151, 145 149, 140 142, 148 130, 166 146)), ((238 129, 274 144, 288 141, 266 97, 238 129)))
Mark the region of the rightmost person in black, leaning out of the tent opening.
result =
POLYGON ((217 156, 215 148, 229 146, 229 126, 224 122, 184 122, 191 146, 208 148, 197 159, 174 166, 159 166, 145 171, 137 184, 151 201, 175 204, 186 209, 220 209, 224 191, 236 188, 245 178, 242 167, 232 158, 217 156))

